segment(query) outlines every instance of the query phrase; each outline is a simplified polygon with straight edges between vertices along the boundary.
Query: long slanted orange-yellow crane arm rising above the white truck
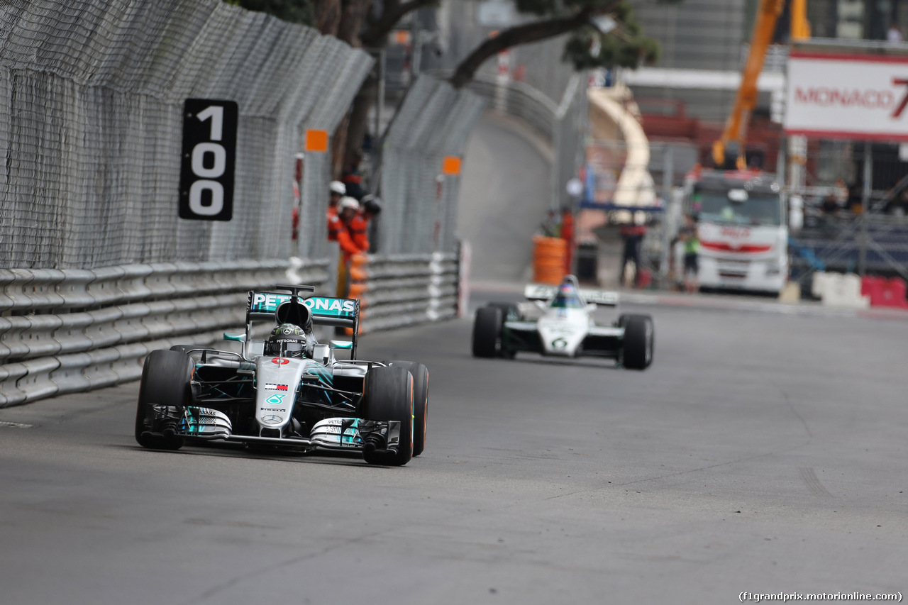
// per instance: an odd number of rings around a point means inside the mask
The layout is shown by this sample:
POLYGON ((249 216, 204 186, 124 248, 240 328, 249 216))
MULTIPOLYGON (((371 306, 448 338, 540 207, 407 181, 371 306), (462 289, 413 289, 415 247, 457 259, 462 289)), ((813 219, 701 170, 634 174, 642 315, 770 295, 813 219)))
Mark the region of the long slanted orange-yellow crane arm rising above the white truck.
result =
POLYGON ((737 96, 735 96, 735 107, 732 113, 725 120, 725 130, 722 132, 722 138, 713 144, 713 161, 716 162, 717 168, 725 165, 725 145, 729 141, 736 141, 738 144, 737 167, 745 169, 744 159, 744 141, 747 122, 750 119, 751 112, 754 111, 757 100, 756 79, 760 77, 763 71, 763 62, 766 57, 766 49, 772 42, 773 32, 775 32, 775 22, 778 21, 779 15, 785 6, 785 0, 760 0, 760 7, 757 10, 756 22, 754 24, 754 34, 751 35, 750 53, 747 55, 747 63, 741 72, 741 85, 738 86, 737 96))

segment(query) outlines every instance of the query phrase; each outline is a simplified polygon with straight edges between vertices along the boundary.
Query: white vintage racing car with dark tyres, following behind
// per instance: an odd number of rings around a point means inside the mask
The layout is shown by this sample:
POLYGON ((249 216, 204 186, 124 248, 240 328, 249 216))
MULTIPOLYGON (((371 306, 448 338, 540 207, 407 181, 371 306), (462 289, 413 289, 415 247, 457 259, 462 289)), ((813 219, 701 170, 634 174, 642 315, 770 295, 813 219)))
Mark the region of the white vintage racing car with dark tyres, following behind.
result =
POLYGON ((489 302, 473 322, 473 355, 511 359, 519 351, 557 357, 607 357, 631 370, 653 362, 653 318, 622 314, 597 325, 597 305, 617 307, 617 293, 581 289, 568 275, 558 286, 528 284, 530 302, 489 302))

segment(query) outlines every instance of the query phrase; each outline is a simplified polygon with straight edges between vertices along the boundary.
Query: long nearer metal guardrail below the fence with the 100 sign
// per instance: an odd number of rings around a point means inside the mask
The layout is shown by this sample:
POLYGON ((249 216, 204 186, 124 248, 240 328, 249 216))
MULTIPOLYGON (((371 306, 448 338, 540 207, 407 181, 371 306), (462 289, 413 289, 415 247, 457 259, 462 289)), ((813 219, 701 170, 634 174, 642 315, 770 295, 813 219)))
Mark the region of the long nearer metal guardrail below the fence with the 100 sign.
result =
MULTIPOLYGON (((249 290, 287 281, 287 261, 0 270, 0 408, 132 381, 145 355, 241 328, 249 290)), ((321 285, 327 261, 297 263, 321 285)))

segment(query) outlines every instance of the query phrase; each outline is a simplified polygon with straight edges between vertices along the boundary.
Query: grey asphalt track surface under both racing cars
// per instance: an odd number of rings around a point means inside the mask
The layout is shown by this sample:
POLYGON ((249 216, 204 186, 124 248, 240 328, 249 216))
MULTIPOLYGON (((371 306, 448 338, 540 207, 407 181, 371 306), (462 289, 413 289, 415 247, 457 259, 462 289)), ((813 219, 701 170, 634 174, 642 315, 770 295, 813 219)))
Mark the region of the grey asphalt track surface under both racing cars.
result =
MULTIPOLYGON (((478 293, 512 298, 511 293, 478 293)), ((897 592, 908 321, 676 305, 646 372, 469 355, 469 318, 367 335, 430 372, 426 451, 133 441, 137 383, 0 410, 21 603, 729 603, 897 592)))

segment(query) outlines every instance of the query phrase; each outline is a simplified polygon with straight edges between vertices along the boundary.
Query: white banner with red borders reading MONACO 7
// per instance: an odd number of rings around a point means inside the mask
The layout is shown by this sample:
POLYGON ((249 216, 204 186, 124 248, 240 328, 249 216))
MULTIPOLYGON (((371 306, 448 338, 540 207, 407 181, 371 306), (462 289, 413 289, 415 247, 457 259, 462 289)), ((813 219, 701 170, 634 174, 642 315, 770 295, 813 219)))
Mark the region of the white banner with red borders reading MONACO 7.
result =
POLYGON ((908 57, 792 53, 785 133, 908 141, 908 57))

